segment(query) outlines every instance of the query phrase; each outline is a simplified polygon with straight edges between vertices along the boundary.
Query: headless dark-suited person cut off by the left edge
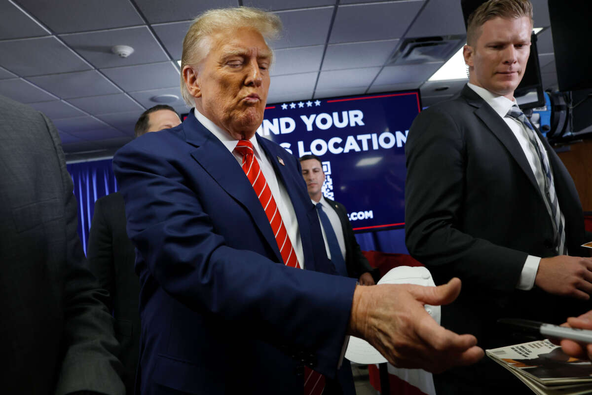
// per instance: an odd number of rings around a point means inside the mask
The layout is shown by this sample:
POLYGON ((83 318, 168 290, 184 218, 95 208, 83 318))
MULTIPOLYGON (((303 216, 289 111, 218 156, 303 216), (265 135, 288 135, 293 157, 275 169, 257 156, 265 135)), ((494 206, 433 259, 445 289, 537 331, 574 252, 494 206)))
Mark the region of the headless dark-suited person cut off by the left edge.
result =
POLYGON ((3 394, 124 394, 117 340, 83 265, 76 200, 51 121, 0 96, 3 394))

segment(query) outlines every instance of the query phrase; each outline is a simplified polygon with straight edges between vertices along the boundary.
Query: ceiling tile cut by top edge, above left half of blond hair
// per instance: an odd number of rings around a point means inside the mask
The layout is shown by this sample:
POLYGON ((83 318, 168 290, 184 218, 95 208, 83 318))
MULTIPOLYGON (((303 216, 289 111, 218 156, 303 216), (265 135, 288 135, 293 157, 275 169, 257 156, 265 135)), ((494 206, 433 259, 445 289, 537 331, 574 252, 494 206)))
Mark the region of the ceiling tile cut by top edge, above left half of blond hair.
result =
POLYGON ((186 21, 211 8, 238 7, 237 0, 136 0, 149 23, 186 21))

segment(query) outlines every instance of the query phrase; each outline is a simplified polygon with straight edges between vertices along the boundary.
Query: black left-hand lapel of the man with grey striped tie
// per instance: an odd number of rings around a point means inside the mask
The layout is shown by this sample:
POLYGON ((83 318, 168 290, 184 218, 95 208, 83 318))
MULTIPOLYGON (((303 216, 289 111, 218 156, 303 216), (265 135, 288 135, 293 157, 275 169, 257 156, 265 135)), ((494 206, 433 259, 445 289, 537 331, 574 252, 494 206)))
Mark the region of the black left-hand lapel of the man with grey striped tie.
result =
POLYGON ((507 126, 500 115, 498 115, 490 105, 488 105, 468 86, 465 85, 461 95, 463 95, 468 104, 477 107, 475 115, 483 121, 485 126, 487 126, 487 129, 489 129, 506 147, 511 157, 514 158, 520 169, 522 169, 526 175, 526 178, 529 179, 530 184, 532 184, 533 188, 535 188, 536 192, 540 195, 539 184, 536 182, 532 168, 530 168, 528 159, 526 159, 526 155, 516 139, 516 136, 514 136, 514 133, 510 130, 510 127, 507 126))

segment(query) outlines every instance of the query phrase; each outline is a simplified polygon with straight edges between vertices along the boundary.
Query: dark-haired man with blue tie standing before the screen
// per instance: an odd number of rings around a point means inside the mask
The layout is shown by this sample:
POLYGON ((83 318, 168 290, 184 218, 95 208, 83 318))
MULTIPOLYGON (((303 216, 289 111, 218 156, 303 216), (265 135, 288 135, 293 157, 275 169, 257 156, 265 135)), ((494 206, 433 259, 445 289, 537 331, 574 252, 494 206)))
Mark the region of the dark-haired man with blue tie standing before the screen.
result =
POLYGON ((327 215, 332 225, 332 232, 337 238, 339 244, 339 258, 332 256, 330 245, 327 243, 326 229, 323 224, 323 236, 327 256, 332 259, 333 264, 336 265, 337 271, 340 268, 339 262, 343 262, 345 258, 345 270, 342 269, 340 274, 346 277, 357 278, 361 285, 374 285, 375 279, 373 275, 378 275, 378 272, 370 266, 368 259, 362 255, 362 251, 356 237, 353 235, 352 224, 348 219, 348 210, 341 203, 337 203, 329 198, 323 196, 321 189, 325 181, 325 174, 323 172, 323 165, 321 159, 316 155, 304 155, 300 158, 300 166, 302 166, 302 175, 306 181, 308 195, 313 204, 321 204, 321 210, 327 215), (336 263, 337 262, 337 263, 336 263))

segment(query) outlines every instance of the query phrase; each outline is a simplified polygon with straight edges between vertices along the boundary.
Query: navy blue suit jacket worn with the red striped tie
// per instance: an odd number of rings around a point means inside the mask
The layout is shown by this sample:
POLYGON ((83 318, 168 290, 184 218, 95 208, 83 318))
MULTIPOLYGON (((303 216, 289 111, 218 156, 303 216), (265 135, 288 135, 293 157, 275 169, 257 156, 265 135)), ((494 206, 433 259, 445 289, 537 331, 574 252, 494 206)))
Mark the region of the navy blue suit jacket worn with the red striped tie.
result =
POLYGON ((336 372, 355 280, 318 273, 334 268, 300 165, 257 139, 294 206, 307 270, 279 263, 242 168, 193 111, 115 155, 137 248, 142 394, 301 394, 303 364, 336 372))

